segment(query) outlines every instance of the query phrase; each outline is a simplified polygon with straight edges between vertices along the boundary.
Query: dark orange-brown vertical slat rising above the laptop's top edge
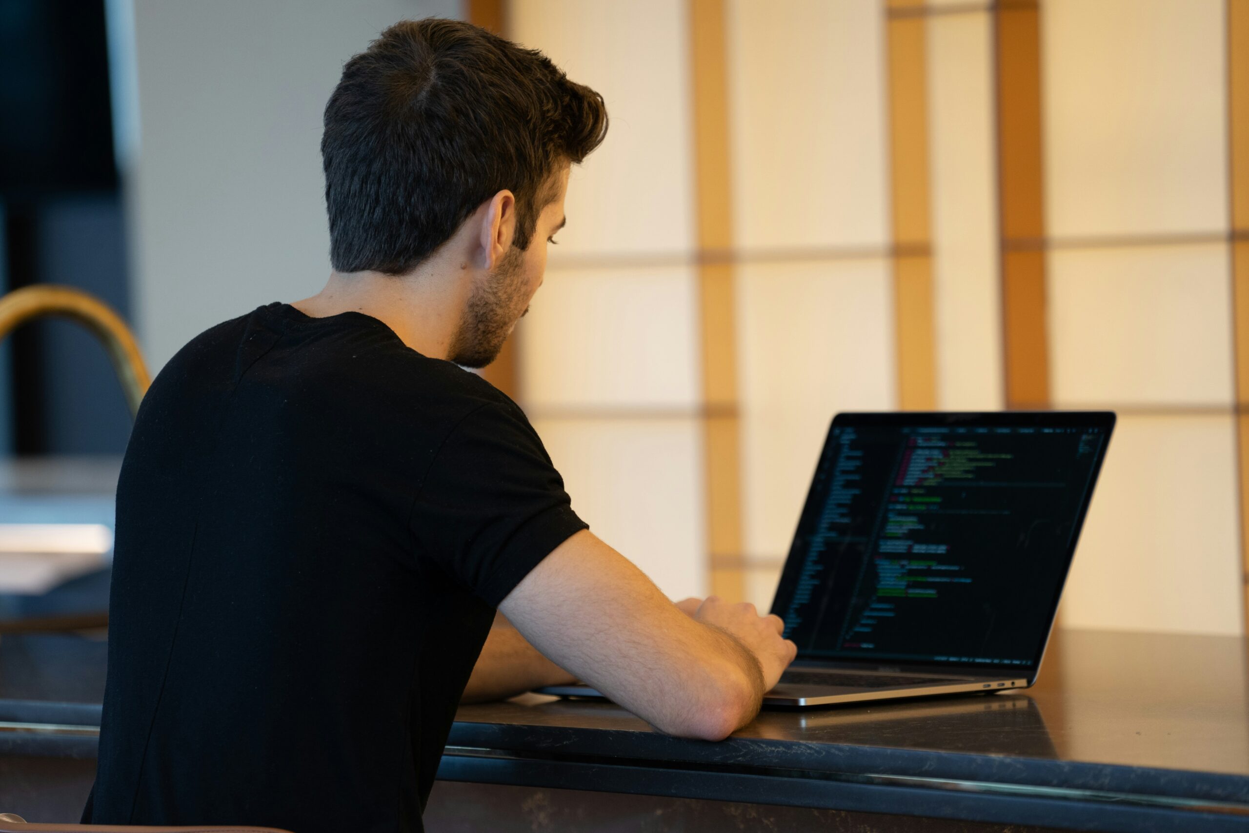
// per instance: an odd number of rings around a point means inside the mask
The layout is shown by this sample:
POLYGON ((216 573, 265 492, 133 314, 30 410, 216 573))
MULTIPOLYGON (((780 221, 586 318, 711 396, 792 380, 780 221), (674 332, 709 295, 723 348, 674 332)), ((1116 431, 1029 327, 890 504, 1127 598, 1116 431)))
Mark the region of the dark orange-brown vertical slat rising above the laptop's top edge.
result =
POLYGON ((1005 398, 1008 408, 1045 408, 1049 348, 1037 1, 1000 0, 994 40, 1005 398))

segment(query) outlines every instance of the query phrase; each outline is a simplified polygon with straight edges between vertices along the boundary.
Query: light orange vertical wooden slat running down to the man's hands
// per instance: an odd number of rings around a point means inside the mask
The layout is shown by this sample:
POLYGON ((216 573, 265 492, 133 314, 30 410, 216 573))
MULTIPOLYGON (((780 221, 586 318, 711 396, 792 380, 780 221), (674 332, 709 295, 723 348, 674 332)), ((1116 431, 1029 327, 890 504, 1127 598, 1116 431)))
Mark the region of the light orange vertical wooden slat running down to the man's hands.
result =
MULTIPOLYGON (((698 249, 729 251, 733 217, 723 0, 689 0, 689 35, 698 249)), ((698 266, 711 591, 739 599, 744 596, 744 576, 733 293, 732 264, 698 266)))

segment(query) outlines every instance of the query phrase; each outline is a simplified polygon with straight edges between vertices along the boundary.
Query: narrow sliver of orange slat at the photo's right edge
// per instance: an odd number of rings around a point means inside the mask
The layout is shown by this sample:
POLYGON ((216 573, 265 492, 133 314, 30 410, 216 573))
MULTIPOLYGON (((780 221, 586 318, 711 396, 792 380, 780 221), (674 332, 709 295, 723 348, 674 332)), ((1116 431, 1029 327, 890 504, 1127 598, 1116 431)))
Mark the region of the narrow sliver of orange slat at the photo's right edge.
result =
POLYGON ((1244 633, 1249 634, 1249 0, 1228 0, 1228 164, 1244 633))

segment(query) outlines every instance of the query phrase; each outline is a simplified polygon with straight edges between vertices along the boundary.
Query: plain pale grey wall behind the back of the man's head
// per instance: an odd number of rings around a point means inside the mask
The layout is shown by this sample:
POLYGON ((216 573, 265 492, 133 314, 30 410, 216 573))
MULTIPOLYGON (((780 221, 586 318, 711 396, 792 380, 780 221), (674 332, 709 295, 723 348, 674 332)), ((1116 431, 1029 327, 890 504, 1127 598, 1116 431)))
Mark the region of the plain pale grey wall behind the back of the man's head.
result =
POLYGON ((342 64, 457 0, 136 0, 135 316, 159 370, 186 341, 330 271, 321 114, 342 64))

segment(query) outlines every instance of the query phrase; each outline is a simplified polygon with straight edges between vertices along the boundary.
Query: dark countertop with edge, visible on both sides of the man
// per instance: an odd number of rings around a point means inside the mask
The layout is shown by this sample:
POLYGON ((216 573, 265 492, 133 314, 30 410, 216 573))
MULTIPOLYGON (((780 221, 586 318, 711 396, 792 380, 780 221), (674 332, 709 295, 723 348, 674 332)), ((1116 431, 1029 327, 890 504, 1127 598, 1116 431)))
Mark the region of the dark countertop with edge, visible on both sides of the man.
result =
MULTIPOLYGON (((1224 823, 1249 827, 1247 664, 1240 638, 1068 631, 1025 693, 767 711, 722 743, 663 736, 611 703, 530 694, 461 708, 440 776, 472 779, 456 761, 488 757, 508 772, 532 759, 940 782, 1173 811, 1220 804, 1224 823)), ((0 722, 94 724, 104 667, 102 642, 0 637, 0 722)), ((92 743, 0 732, 0 754, 84 756, 92 743)))

